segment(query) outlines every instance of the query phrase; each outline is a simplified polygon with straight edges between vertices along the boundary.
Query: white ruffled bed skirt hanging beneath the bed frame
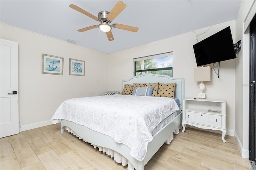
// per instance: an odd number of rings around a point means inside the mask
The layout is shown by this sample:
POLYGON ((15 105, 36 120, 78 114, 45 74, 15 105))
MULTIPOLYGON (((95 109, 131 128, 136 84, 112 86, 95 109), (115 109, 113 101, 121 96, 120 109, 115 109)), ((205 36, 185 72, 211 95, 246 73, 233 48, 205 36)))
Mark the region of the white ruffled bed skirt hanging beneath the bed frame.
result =
MULTIPOLYGON (((174 134, 179 134, 179 130, 182 126, 179 125, 175 130, 174 132, 171 134, 171 136, 169 136, 167 138, 167 140, 165 141, 166 144, 170 144, 170 142, 172 142, 173 138, 174 138, 174 134)), ((68 132, 70 132, 71 134, 74 134, 76 135, 76 137, 78 137, 79 139, 81 140, 84 140, 83 138, 81 138, 78 134, 76 134, 71 128, 69 127, 66 127, 66 130, 68 132)), ((84 140, 85 142, 88 143, 88 141, 84 140)), ((105 147, 102 147, 102 146, 97 146, 95 144, 92 144, 92 146, 94 146, 94 148, 99 148, 99 151, 100 152, 103 152, 103 153, 106 153, 108 156, 110 156, 111 158, 114 157, 114 160, 117 162, 117 163, 121 163, 122 166, 126 166, 128 164, 128 170, 134 170, 134 166, 132 166, 132 164, 124 157, 122 156, 121 154, 119 154, 118 152, 112 150, 112 149, 109 149, 109 148, 105 148, 105 147)))

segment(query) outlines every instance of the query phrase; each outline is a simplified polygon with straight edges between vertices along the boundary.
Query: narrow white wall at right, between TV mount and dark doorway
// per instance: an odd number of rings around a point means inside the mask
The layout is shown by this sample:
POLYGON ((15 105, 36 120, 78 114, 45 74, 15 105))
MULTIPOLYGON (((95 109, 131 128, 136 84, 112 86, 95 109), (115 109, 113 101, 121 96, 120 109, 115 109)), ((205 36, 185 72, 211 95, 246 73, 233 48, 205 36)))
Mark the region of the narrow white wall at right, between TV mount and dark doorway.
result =
POLYGON ((253 1, 243 0, 236 18, 236 42, 242 40, 236 60, 236 134, 242 157, 249 156, 249 29, 244 33, 244 21, 253 1))

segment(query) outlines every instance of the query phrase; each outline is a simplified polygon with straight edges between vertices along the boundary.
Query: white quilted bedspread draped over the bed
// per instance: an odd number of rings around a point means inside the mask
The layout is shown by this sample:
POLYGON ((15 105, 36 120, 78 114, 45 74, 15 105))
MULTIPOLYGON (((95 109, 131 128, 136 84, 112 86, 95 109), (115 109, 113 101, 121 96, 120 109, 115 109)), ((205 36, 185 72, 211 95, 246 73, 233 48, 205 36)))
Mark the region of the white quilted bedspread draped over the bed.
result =
POLYGON ((65 119, 111 136, 141 161, 153 138, 152 130, 177 110, 177 103, 168 97, 106 95, 68 99, 51 120, 56 124, 65 119))

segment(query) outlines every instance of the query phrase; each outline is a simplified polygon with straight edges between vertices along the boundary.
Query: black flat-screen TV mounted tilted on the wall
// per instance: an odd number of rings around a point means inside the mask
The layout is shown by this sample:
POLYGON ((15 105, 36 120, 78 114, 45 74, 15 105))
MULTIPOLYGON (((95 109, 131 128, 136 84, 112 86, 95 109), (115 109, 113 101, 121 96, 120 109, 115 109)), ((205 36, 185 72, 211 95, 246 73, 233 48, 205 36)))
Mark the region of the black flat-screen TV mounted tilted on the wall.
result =
POLYGON ((197 66, 236 58, 230 27, 193 45, 197 66))

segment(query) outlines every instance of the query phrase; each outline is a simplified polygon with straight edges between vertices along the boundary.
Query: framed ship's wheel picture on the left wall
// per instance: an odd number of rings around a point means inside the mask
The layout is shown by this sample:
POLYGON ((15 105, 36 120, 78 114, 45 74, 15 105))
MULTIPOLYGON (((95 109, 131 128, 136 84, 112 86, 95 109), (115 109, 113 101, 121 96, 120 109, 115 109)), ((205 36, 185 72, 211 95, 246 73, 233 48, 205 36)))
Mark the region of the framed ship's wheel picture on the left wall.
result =
POLYGON ((69 59, 69 75, 84 76, 84 61, 78 59, 69 59))

